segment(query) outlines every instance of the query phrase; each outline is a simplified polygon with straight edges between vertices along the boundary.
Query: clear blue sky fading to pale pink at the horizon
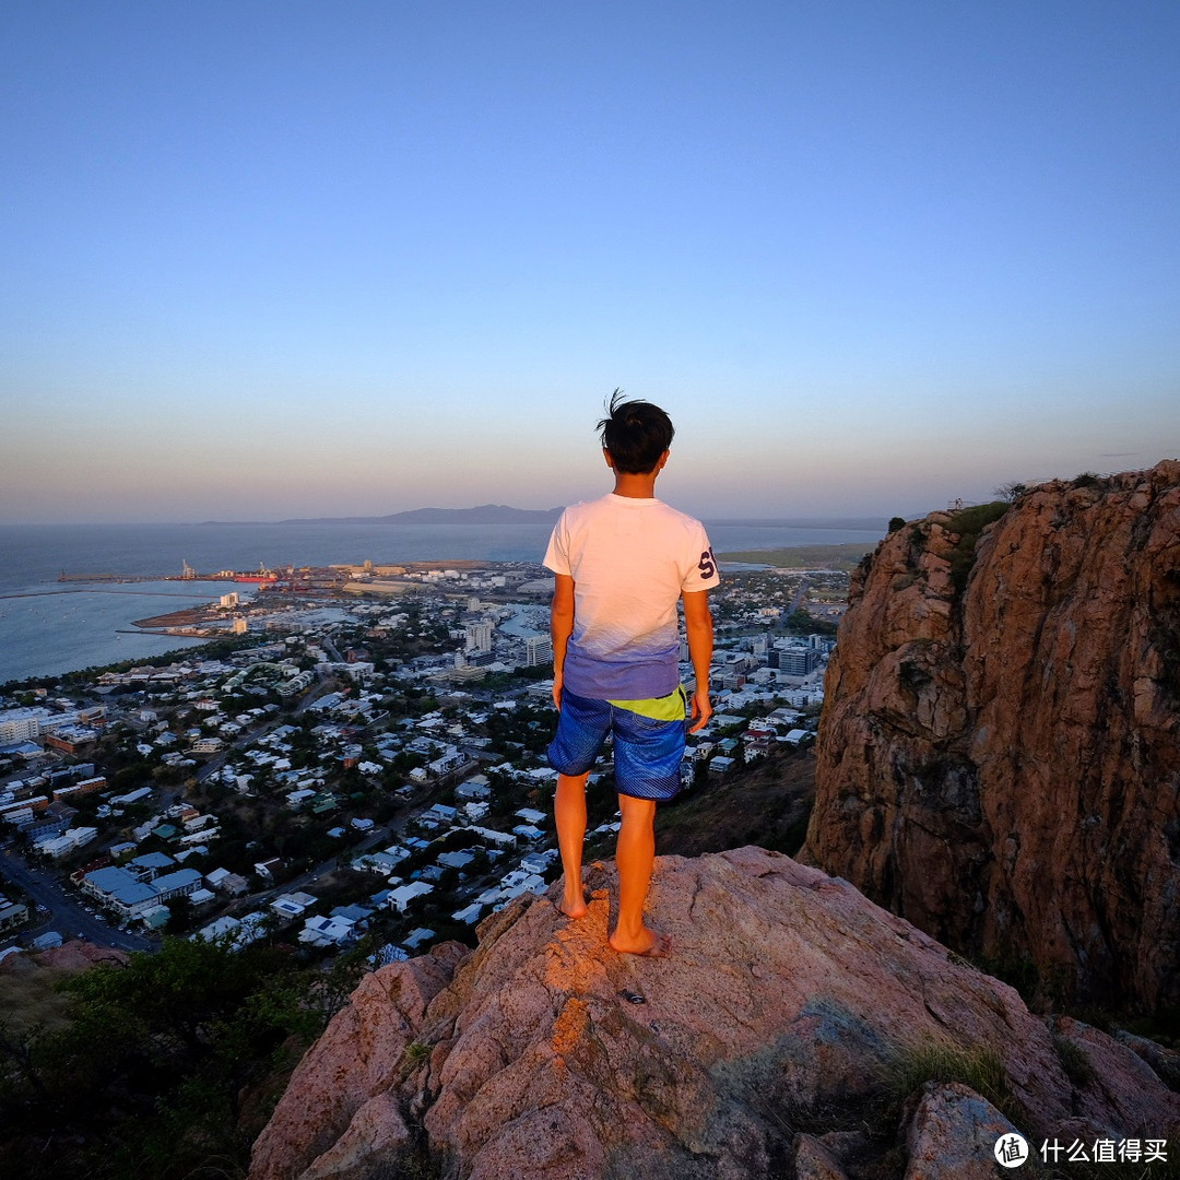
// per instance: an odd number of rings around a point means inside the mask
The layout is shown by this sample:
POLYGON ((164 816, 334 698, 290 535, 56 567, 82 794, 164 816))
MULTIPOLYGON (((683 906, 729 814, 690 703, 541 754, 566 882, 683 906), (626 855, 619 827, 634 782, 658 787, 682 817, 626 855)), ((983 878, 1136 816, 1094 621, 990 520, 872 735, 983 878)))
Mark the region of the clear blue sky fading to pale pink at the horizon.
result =
POLYGON ((1180 4, 0 6, 0 520, 706 517, 1180 455, 1180 4))

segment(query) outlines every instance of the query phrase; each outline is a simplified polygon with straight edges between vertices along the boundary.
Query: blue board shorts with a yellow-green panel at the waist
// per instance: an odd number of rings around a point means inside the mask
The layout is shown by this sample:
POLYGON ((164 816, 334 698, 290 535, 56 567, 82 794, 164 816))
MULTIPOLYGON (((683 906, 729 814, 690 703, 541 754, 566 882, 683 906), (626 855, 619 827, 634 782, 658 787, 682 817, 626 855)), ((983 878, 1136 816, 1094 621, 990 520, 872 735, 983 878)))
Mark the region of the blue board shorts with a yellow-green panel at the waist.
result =
POLYGON ((594 701, 562 691, 549 765, 558 774, 585 774, 608 735, 615 740, 615 787, 621 795, 666 802, 680 794, 688 729, 684 690, 658 701, 594 701), (658 716, 645 716, 637 708, 658 716), (654 708, 653 708, 654 707, 654 708), (678 717, 675 715, 678 713, 678 717), (666 720, 669 714, 673 720, 666 720))

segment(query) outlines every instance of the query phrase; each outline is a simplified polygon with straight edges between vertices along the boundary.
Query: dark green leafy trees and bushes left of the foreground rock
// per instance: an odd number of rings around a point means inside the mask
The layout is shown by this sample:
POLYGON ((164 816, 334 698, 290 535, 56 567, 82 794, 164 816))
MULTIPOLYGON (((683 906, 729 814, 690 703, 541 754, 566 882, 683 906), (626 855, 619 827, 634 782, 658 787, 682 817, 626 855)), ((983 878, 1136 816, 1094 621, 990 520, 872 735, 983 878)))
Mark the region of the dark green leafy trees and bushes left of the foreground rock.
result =
POLYGON ((182 938, 67 977, 66 1027, 0 1036, 0 1156, 27 1180, 244 1174, 242 1095, 322 1030, 315 978, 267 945, 182 938))

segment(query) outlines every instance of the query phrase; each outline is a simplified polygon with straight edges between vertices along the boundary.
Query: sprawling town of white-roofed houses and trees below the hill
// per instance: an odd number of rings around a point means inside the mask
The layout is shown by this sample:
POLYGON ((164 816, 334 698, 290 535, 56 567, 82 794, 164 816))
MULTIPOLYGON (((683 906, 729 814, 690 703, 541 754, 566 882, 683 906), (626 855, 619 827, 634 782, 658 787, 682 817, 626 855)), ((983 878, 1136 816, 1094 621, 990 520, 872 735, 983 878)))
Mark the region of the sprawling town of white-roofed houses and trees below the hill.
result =
MULTIPOLYGON (((330 592, 260 595, 215 647, 8 686, 2 864, 61 903, 21 896, 8 872, 0 955, 78 937, 80 906, 96 939, 275 936, 327 956, 367 939, 388 962, 471 942, 543 891, 560 871, 552 579, 471 566, 367 563, 330 592)), ((727 571, 716 712, 689 740, 684 798, 812 740, 846 588, 832 571, 727 571)), ((604 856, 611 782, 604 759, 588 793, 604 856)))

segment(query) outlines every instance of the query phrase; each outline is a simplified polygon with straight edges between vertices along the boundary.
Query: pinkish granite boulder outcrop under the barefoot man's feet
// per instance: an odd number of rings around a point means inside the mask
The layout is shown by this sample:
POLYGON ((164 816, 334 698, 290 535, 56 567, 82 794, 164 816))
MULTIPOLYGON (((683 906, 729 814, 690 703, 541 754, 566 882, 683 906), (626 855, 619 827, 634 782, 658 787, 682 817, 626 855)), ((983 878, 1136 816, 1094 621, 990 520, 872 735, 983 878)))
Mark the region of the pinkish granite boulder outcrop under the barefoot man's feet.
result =
POLYGON ((594 866, 581 922, 526 897, 481 925, 474 951, 445 944, 368 976, 297 1068, 253 1180, 412 1166, 454 1180, 847 1180, 866 1160, 917 1180, 992 1174, 936 1165, 985 1150, 990 1168, 1012 1121, 1048 1136, 1180 1128, 1180 1096, 1134 1048, 1050 1027, 846 881, 760 848, 661 858, 650 920, 674 953, 645 959, 607 944, 612 878, 594 866), (1088 1080, 1067 1074, 1067 1041, 1088 1080), (965 1079, 919 1077, 891 1104, 889 1079, 938 1049, 997 1062, 1005 1113, 965 1079))

